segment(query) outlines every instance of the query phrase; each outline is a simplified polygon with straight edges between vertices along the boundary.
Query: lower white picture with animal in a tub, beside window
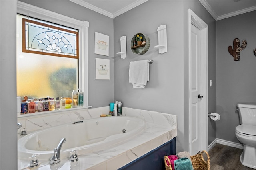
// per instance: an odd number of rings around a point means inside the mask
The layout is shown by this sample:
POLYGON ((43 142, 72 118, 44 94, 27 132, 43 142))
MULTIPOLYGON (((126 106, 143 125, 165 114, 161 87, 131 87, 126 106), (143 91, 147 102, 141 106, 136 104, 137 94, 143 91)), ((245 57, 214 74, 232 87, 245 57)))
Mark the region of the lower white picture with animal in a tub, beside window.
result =
POLYGON ((110 60, 95 58, 95 80, 109 80, 110 60))

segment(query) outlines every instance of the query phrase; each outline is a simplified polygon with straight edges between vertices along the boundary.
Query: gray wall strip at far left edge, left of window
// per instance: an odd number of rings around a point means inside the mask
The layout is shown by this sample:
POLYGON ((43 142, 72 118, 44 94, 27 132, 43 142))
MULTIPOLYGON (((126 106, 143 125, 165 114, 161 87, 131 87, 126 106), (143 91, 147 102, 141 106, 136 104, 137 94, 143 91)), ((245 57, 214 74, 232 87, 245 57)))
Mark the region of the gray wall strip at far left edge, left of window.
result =
POLYGON ((16 0, 0 0, 1 170, 17 169, 16 12, 16 0))

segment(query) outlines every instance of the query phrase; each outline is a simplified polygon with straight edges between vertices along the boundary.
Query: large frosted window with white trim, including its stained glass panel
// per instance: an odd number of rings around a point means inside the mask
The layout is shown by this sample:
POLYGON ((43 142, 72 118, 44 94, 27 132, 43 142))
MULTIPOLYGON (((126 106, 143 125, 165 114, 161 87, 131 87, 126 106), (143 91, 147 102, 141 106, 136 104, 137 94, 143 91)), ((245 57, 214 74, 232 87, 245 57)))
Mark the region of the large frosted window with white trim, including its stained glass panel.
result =
POLYGON ((17 3, 17 96, 71 97, 80 88, 87 107, 89 23, 17 3))

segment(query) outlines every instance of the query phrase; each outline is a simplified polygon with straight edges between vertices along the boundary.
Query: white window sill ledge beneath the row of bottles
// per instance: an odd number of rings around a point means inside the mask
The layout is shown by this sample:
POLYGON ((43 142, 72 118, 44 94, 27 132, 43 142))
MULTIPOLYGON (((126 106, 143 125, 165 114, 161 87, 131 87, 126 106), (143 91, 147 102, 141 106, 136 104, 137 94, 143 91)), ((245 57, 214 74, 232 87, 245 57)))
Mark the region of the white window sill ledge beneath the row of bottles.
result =
POLYGON ((84 110, 84 109, 87 110, 88 108, 91 108, 91 107, 92 106, 84 106, 84 107, 77 107, 77 108, 70 108, 70 109, 60 109, 60 110, 54 110, 54 111, 43 111, 43 112, 36 112, 36 113, 27 113, 27 114, 23 114, 23 115, 18 113, 17 118, 37 117, 37 116, 50 115, 50 114, 58 115, 58 114, 62 114, 62 113, 72 112, 72 111, 81 111, 81 110, 84 110))

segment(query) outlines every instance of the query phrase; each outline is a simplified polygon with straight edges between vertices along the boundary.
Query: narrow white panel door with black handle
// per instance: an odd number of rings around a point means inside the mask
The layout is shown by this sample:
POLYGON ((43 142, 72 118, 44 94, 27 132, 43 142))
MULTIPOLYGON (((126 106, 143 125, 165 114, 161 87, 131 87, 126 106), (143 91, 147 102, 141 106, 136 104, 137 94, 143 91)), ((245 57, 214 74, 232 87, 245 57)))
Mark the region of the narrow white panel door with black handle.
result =
POLYGON ((200 29, 191 24, 191 155, 200 151, 200 29))

